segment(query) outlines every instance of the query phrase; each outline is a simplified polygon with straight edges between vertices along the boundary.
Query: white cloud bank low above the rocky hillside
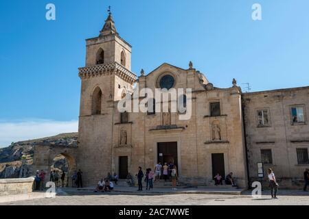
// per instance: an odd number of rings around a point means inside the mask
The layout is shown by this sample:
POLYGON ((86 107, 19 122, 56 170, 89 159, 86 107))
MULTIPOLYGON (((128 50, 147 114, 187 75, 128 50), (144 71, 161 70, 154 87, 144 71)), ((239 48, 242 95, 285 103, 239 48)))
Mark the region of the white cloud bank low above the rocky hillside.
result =
POLYGON ((77 132, 78 121, 55 120, 0 120, 0 147, 8 146, 11 142, 55 136, 60 133, 77 132))

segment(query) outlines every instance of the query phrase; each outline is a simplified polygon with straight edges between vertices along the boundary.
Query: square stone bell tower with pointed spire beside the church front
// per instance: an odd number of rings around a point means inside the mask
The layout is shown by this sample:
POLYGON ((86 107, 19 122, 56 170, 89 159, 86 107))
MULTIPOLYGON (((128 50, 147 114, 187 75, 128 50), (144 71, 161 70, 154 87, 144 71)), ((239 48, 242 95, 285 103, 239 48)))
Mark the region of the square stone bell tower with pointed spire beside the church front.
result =
POLYGON ((111 172, 113 127, 117 101, 133 90, 137 76, 131 69, 131 46, 122 39, 109 10, 99 36, 86 40, 86 64, 79 68, 82 81, 78 124, 77 165, 85 185, 95 185, 102 172, 111 172))

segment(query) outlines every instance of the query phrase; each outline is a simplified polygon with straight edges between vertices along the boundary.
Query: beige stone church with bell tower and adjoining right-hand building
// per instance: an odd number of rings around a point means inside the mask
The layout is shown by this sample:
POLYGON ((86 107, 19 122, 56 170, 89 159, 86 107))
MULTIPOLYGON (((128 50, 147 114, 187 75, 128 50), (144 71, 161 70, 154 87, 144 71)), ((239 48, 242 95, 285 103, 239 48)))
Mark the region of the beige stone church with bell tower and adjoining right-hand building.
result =
POLYGON ((138 166, 145 170, 157 162, 173 162, 187 183, 212 184, 218 172, 233 172, 243 188, 257 176, 262 159, 282 179, 299 178, 308 166, 309 88, 244 94, 235 79, 230 88, 216 88, 191 62, 187 69, 164 63, 137 77, 131 72, 132 47, 117 33, 111 13, 100 36, 86 42, 76 151, 84 185, 95 185, 107 172, 135 175, 138 166), (139 89, 166 83, 191 88, 191 118, 179 120, 180 112, 120 113, 118 102, 135 83, 139 89), (290 123, 295 115, 299 123, 290 123), (301 164, 297 156, 303 156, 301 164))

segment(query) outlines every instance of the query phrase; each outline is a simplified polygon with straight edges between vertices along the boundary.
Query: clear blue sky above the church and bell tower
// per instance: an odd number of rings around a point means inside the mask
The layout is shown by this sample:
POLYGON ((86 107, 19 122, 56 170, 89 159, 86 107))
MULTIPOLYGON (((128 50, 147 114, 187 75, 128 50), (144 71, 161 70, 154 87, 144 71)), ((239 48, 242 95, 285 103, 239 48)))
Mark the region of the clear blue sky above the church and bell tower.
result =
POLYGON ((84 40, 98 36, 108 5, 135 73, 192 60, 217 87, 233 77, 253 91, 309 86, 308 0, 0 1, 0 128, 78 120, 84 40), (56 21, 45 19, 47 3, 56 21))

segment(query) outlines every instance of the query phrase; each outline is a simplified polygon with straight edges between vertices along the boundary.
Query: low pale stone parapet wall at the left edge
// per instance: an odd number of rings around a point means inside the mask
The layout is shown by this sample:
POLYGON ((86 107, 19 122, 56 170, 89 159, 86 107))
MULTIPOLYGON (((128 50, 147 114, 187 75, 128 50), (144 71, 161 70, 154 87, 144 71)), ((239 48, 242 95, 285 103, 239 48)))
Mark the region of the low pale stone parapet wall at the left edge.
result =
POLYGON ((30 194, 34 177, 19 179, 0 179, 0 196, 10 196, 14 194, 30 194))

